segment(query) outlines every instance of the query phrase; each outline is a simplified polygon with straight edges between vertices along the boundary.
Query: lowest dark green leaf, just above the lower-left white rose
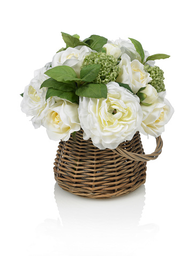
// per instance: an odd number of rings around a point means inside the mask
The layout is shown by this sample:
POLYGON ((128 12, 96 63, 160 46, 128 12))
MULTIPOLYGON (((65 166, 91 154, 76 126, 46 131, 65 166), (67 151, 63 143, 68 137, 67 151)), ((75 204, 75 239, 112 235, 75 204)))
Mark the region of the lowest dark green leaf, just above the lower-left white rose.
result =
POLYGON ((58 96, 59 98, 64 98, 71 102, 77 102, 79 99, 79 97, 74 93, 74 91, 61 91, 56 90, 54 88, 48 88, 46 94, 46 101, 51 96, 58 96))

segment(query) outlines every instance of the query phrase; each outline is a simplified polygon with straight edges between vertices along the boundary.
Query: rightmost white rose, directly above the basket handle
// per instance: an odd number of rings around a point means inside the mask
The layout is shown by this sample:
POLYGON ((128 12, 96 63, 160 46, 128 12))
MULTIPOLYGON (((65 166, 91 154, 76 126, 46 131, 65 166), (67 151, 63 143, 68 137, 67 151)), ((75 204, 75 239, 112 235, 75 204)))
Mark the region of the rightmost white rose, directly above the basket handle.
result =
POLYGON ((168 123, 174 113, 169 101, 164 98, 166 92, 158 93, 158 100, 150 106, 141 104, 143 121, 140 132, 145 135, 158 137, 165 131, 165 124, 168 123))

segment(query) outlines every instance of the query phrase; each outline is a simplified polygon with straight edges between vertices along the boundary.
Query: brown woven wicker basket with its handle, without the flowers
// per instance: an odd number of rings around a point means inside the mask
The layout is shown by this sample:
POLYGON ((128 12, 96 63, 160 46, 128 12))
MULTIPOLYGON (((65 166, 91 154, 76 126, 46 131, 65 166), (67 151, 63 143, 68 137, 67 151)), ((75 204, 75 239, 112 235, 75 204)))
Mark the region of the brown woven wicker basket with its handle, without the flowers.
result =
POLYGON ((60 141, 54 163, 58 185, 73 194, 110 198, 130 193, 146 181, 146 162, 158 158, 162 139, 156 138, 154 153, 145 155, 140 134, 115 150, 99 150, 83 139, 83 130, 68 141, 60 141))

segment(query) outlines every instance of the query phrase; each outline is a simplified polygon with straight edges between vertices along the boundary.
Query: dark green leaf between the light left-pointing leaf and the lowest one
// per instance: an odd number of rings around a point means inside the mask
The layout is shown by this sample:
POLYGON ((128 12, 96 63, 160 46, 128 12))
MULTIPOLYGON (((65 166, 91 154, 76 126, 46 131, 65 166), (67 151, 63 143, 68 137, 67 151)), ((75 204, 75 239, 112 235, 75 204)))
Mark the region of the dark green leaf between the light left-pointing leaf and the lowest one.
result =
POLYGON ((76 84, 75 83, 62 83, 54 80, 53 78, 49 78, 46 81, 44 81, 41 84, 41 88, 47 87, 47 88, 53 88, 61 91, 75 91, 76 90, 76 84))

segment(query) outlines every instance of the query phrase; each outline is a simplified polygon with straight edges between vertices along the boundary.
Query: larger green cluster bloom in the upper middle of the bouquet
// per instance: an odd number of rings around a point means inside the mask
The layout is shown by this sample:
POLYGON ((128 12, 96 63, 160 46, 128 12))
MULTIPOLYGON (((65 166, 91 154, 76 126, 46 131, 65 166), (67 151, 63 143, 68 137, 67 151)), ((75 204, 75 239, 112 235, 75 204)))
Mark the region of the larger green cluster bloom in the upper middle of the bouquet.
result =
POLYGON ((117 60, 113 55, 106 55, 106 53, 90 53, 84 59, 83 66, 92 64, 100 64, 101 69, 98 77, 94 80, 95 83, 105 83, 115 81, 117 75, 121 72, 120 67, 117 66, 117 60))

